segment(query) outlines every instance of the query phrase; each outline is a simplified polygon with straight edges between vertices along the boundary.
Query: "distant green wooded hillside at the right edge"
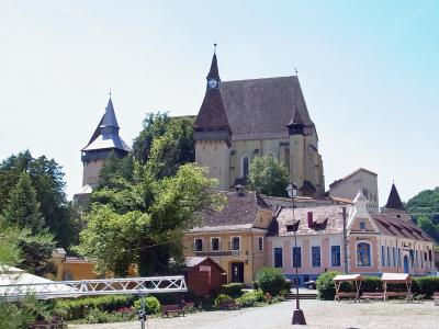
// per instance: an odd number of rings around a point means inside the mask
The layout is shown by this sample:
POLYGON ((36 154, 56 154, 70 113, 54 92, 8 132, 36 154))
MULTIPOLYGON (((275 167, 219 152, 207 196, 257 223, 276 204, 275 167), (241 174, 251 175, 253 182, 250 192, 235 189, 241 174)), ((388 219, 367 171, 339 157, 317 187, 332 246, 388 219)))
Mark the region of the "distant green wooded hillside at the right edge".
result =
POLYGON ((439 188, 425 190, 406 204, 417 225, 439 242, 439 188))

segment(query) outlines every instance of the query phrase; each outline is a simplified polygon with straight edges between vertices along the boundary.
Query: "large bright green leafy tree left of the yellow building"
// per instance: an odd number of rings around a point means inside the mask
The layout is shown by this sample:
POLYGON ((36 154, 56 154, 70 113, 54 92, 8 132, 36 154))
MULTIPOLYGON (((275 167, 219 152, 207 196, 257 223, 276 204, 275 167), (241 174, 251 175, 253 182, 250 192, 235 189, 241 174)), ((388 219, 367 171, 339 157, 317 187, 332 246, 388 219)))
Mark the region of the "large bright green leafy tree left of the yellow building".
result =
POLYGON ((101 272, 126 275, 134 263, 140 275, 171 273, 182 265, 183 231, 199 223, 202 212, 224 202, 214 190, 216 183, 205 168, 193 163, 160 180, 148 166, 137 164, 134 183, 93 193, 78 251, 101 272))

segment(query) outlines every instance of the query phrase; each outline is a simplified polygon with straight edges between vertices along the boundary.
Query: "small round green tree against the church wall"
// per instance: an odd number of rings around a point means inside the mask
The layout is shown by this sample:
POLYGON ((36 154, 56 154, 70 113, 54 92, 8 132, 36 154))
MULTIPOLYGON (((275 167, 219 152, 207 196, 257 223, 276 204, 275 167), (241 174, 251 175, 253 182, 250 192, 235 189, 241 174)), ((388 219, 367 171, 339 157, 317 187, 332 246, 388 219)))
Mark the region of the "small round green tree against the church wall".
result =
POLYGON ((257 157, 250 166, 249 186, 258 193, 285 196, 289 183, 288 170, 272 157, 257 157))

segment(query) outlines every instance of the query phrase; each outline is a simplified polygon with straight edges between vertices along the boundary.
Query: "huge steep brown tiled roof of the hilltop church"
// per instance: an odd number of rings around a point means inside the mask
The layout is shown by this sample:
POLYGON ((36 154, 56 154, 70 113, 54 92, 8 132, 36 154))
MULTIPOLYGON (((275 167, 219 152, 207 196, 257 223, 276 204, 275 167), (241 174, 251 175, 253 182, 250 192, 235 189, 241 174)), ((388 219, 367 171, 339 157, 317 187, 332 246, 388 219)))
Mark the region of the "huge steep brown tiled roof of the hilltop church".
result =
POLYGON ((297 77, 224 81, 219 89, 233 139, 288 137, 295 107, 305 133, 314 129, 297 77))

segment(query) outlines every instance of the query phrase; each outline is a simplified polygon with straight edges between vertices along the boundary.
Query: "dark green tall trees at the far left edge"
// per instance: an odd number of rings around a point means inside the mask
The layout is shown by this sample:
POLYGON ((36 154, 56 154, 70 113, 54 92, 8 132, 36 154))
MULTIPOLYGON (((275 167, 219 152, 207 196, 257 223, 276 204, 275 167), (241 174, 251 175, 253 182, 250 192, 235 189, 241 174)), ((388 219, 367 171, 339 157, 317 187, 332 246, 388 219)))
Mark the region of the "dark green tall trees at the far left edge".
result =
POLYGON ((33 158, 26 150, 0 163, 0 214, 15 224, 13 217, 20 215, 20 220, 31 220, 33 228, 47 228, 60 246, 68 248, 75 237, 64 189, 64 172, 54 159, 33 158))

